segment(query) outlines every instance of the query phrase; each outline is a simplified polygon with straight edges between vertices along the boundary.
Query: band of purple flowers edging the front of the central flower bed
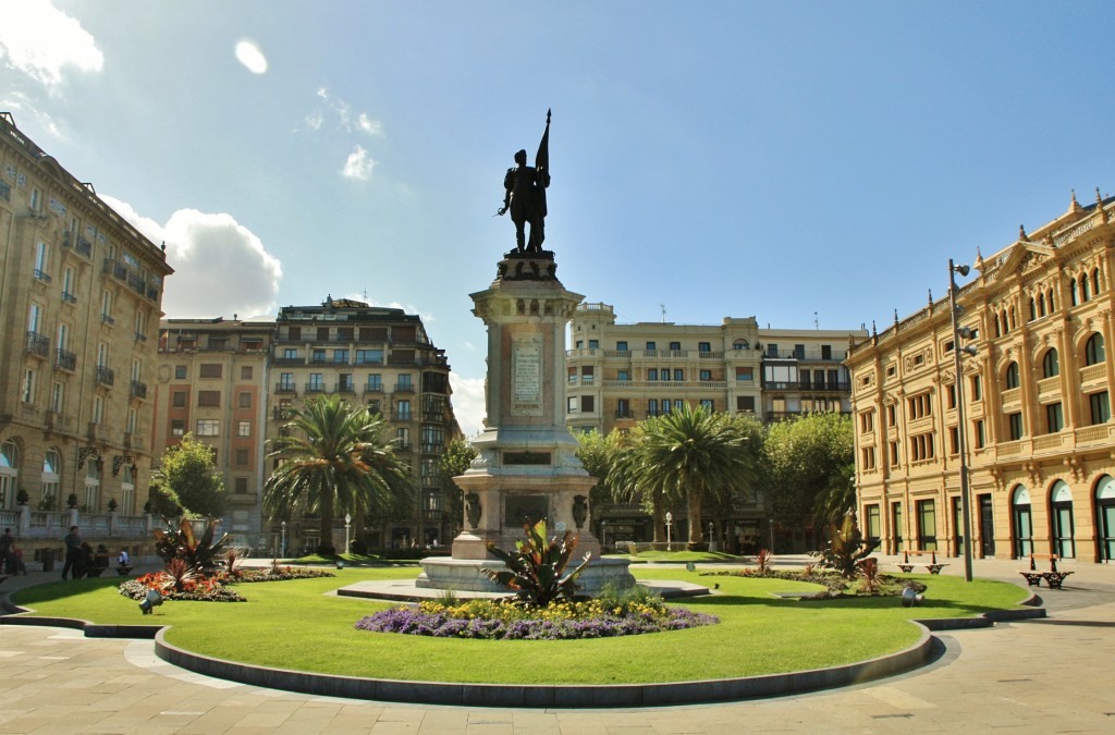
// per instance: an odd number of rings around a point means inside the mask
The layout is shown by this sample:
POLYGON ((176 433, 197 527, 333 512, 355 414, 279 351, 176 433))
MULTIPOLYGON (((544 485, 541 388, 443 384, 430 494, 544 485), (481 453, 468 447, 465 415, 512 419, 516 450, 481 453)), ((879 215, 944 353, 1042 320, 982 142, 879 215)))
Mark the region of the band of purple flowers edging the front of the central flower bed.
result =
POLYGON ((357 630, 400 632, 435 638, 482 638, 487 640, 576 640, 613 638, 644 632, 682 630, 720 622, 720 619, 685 608, 666 608, 663 615, 604 615, 583 620, 526 619, 504 622, 481 618, 455 618, 445 612, 418 608, 391 608, 361 618, 357 630))

